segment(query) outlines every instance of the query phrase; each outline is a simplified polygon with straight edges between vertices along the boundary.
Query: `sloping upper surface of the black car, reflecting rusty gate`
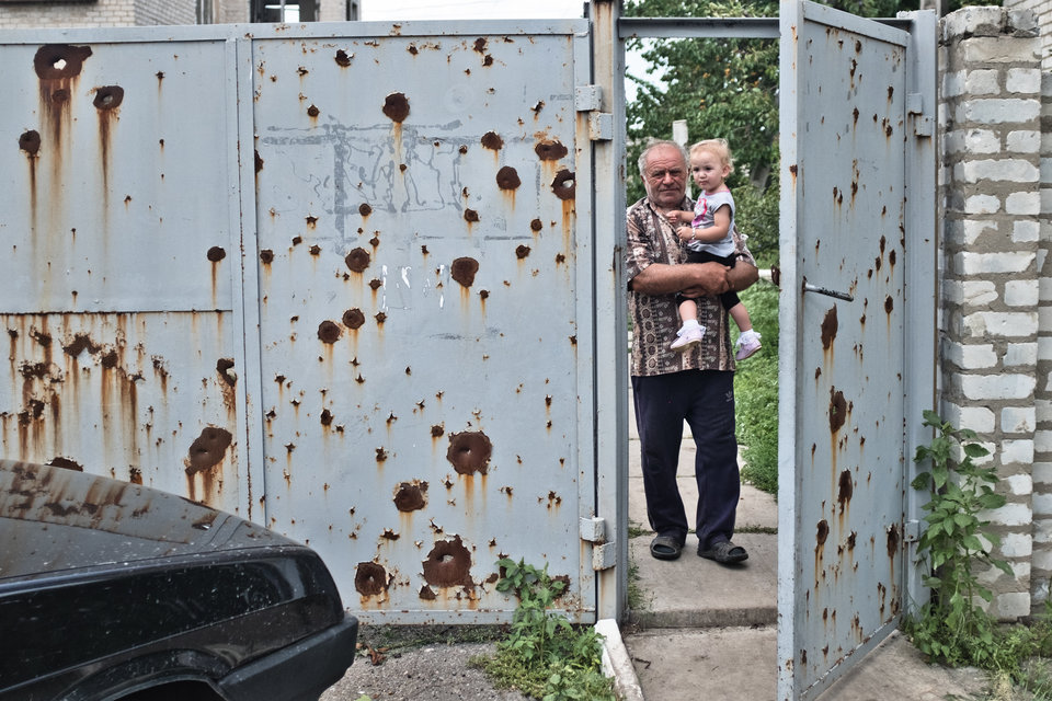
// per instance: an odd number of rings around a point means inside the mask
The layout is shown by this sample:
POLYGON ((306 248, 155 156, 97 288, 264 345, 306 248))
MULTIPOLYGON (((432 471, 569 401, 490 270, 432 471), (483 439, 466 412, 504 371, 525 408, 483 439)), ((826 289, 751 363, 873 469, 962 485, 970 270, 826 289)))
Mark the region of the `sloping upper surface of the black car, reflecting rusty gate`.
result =
POLYGON ((0 460, 0 582, 205 552, 298 547, 174 494, 11 460, 0 460))

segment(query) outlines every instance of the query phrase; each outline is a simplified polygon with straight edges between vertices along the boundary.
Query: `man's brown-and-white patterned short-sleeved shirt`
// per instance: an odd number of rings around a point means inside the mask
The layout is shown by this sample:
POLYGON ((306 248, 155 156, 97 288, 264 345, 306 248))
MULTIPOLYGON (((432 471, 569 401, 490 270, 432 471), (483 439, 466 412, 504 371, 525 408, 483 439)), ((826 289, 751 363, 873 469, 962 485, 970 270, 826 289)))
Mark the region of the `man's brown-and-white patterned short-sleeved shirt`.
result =
MULTIPOLYGON (((694 209, 694 202, 685 197, 679 209, 694 209)), ((650 204, 649 198, 643 197, 629 207, 627 220, 625 277, 628 280, 653 263, 679 265, 686 262, 686 249, 681 245, 672 225, 650 204)), ((736 230, 734 245, 737 260, 756 265, 736 230)), ((719 297, 702 297, 696 301, 698 323, 706 327, 705 340, 685 353, 677 353, 668 348, 681 326, 675 296, 628 290, 628 313, 632 321, 631 375, 734 369, 729 320, 719 297)))

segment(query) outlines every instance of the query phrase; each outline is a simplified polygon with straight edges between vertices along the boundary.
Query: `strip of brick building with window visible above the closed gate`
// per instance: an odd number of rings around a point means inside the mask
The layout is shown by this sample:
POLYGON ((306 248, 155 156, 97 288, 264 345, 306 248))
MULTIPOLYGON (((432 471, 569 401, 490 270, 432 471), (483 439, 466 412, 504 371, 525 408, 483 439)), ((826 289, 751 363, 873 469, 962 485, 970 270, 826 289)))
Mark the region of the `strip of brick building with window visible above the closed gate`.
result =
POLYGON ((0 0, 0 30, 239 22, 342 22, 359 0, 0 0))

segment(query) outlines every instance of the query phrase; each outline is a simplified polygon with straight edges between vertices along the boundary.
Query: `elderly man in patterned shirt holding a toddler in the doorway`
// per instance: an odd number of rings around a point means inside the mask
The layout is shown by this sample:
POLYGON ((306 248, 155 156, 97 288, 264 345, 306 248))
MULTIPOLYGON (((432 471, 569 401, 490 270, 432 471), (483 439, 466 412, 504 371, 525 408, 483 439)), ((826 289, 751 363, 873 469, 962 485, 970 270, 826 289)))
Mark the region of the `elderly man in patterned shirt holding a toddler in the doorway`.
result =
POLYGON ((731 542, 741 492, 734 437, 734 355, 719 295, 756 281, 756 264, 735 232, 734 267, 684 263, 685 249, 666 219, 690 210, 687 158, 674 141, 651 143, 639 158, 647 196, 628 208, 629 314, 632 320, 632 394, 642 455, 647 514, 656 537, 650 552, 675 560, 686 544, 687 518, 676 484, 683 422, 697 445, 695 527, 698 555, 723 564, 746 558, 731 542), (701 296, 698 321, 705 338, 685 353, 668 348, 679 327, 674 295, 701 296))

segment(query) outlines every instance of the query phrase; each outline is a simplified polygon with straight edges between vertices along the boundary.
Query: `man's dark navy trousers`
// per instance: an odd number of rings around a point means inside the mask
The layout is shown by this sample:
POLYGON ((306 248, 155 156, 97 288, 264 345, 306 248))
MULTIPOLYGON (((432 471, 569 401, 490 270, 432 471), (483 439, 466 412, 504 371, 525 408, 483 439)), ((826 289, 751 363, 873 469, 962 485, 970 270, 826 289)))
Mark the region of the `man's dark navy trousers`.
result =
POLYGON ((659 536, 684 542, 690 530, 676 484, 683 422, 697 446, 698 482, 695 527, 700 545, 711 548, 734 533, 741 495, 737 441, 734 437, 734 374, 687 370, 632 377, 650 527, 659 536))

